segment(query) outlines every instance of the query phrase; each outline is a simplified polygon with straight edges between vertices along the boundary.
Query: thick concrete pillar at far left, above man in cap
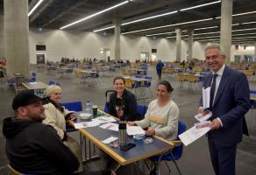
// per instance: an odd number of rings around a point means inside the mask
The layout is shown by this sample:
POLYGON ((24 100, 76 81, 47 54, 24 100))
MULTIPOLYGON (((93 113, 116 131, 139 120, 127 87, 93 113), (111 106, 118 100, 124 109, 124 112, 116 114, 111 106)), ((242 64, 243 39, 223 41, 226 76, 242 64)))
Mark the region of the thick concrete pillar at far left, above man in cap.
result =
POLYGON ((4 39, 8 74, 29 74, 27 14, 27 0, 4 0, 4 39))

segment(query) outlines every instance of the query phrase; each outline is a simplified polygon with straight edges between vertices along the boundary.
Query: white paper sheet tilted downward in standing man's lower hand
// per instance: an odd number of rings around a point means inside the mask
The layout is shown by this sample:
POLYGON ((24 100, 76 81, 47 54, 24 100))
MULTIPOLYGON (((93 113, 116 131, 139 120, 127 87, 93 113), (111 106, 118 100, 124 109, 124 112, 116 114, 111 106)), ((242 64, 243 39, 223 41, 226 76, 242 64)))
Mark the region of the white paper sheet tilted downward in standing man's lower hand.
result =
POLYGON ((188 144, 191 144, 195 142, 198 138, 203 137, 208 131, 210 130, 210 127, 204 127, 200 129, 196 129, 196 126, 193 126, 189 130, 183 132, 180 137, 181 141, 185 146, 188 146, 188 144))

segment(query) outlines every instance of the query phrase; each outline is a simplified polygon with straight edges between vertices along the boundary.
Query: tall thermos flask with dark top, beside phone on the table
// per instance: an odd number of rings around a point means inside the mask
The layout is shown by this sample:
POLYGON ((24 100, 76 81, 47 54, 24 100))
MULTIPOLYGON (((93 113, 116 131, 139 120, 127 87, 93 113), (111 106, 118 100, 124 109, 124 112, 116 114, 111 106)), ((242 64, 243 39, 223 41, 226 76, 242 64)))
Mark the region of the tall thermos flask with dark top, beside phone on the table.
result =
POLYGON ((121 116, 119 120, 118 138, 120 149, 124 151, 126 148, 126 119, 124 116, 121 116))

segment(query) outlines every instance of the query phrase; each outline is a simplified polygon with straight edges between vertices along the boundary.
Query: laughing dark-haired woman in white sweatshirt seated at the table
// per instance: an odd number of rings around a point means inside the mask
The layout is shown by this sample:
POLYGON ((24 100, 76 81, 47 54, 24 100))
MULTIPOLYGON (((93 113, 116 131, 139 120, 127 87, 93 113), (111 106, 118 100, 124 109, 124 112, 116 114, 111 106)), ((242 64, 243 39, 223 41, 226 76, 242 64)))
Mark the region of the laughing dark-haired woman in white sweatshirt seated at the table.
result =
POLYGON ((178 133, 180 110, 171 99, 174 88, 168 81, 160 81, 157 86, 157 99, 149 103, 145 118, 141 121, 128 122, 130 126, 138 125, 142 129, 148 127, 146 136, 159 136, 169 141, 174 140, 178 133))

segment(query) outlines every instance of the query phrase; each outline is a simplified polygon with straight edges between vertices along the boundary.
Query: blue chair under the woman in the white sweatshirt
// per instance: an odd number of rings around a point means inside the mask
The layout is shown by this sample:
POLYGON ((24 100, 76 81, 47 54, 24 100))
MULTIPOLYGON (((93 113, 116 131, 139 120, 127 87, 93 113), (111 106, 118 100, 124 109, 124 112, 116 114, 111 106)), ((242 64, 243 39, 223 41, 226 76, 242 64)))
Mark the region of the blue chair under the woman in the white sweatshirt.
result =
MULTIPOLYGON (((178 122, 178 136, 182 134, 186 130, 187 126, 185 123, 182 123, 181 121, 178 122)), ((181 143, 181 140, 178 138, 177 140, 172 141, 173 144, 175 144, 175 147, 173 150, 168 151, 167 153, 161 155, 161 156, 154 156, 152 158, 149 158, 153 163, 157 163, 157 165, 160 164, 160 161, 165 161, 167 165, 167 161, 172 161, 181 175, 181 171, 179 166, 177 165, 176 160, 180 159, 182 156, 182 151, 183 151, 183 144, 181 143)), ((170 167, 167 165, 167 168, 169 172, 171 172, 170 167)))

